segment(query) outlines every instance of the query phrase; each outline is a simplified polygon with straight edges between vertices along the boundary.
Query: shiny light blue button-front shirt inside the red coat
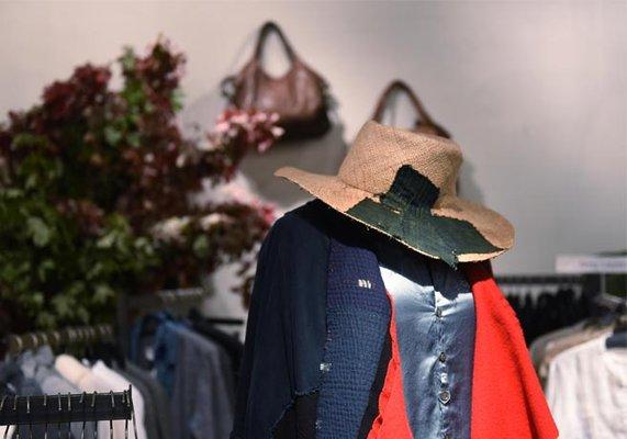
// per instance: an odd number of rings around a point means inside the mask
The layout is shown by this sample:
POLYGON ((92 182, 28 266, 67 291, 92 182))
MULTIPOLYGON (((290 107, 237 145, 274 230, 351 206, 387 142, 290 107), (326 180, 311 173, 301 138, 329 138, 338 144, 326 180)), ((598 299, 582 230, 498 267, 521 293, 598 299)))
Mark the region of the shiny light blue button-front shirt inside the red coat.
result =
POLYGON ((407 419, 416 438, 470 438, 474 301, 446 263, 399 251, 381 267, 393 299, 407 419), (448 436, 447 436, 448 435, 448 436))

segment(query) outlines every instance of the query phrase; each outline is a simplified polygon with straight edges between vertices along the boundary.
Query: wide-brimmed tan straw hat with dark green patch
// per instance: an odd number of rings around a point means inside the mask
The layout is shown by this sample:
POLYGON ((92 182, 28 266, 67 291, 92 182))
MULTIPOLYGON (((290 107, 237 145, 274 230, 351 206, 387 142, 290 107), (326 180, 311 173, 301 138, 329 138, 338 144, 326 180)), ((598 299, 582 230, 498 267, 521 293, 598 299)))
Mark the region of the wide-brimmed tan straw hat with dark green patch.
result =
POLYGON ((481 261, 512 248, 514 227, 457 196, 461 150, 452 140, 368 122, 337 176, 285 167, 275 172, 331 207, 446 261, 481 261))

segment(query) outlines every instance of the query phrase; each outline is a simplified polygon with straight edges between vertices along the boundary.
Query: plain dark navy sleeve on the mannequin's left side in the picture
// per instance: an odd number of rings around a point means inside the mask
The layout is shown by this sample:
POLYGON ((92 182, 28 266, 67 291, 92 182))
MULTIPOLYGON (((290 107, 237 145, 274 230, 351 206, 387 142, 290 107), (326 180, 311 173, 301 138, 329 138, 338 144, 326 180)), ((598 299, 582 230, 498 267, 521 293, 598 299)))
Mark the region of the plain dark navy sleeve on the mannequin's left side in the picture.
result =
POLYGON ((296 398, 320 384, 329 238, 316 205, 285 214, 261 247, 232 439, 270 438, 296 398))

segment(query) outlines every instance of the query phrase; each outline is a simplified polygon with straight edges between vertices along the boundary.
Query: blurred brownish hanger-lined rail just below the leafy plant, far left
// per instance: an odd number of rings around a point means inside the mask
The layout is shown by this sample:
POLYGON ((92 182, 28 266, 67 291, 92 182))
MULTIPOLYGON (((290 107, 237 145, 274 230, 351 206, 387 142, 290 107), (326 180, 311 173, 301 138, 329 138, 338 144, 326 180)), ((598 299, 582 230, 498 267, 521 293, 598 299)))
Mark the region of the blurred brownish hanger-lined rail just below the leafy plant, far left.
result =
POLYGON ((74 326, 48 331, 9 334, 0 340, 0 358, 5 354, 18 354, 42 346, 52 348, 66 345, 91 344, 114 340, 113 326, 74 326))

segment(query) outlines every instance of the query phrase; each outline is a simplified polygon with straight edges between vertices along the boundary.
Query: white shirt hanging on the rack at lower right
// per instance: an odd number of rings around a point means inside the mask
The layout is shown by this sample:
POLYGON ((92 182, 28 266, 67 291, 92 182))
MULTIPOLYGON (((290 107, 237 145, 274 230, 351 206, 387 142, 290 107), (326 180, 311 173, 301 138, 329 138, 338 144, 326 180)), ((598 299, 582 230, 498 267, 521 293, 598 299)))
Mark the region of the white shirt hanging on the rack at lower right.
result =
POLYGON ((607 335, 557 356, 547 399, 563 439, 627 438, 627 349, 607 335))

